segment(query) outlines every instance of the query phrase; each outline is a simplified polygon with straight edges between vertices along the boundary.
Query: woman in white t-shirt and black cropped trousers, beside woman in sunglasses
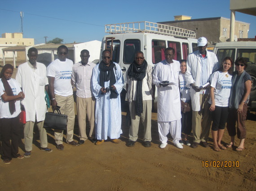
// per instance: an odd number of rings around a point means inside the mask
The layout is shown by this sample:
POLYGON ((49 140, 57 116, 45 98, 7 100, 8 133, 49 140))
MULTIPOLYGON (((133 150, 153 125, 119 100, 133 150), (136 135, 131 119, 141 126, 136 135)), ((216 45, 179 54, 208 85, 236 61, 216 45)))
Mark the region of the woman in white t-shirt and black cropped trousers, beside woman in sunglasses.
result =
POLYGON ((221 144, 221 139, 228 118, 228 102, 232 86, 232 66, 232 59, 230 57, 225 57, 221 68, 211 76, 209 100, 211 106, 209 110, 212 111, 212 139, 214 151, 226 149, 226 147, 221 144))

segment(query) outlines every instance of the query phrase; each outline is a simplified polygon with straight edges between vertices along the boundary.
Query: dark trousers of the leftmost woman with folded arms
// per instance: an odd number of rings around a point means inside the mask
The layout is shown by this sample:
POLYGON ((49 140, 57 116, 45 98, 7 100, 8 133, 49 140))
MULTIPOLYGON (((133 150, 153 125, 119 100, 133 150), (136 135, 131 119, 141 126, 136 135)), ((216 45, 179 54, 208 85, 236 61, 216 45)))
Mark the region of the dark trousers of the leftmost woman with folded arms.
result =
POLYGON ((3 149, 1 159, 12 160, 12 158, 17 158, 19 151, 19 115, 14 118, 2 118, 0 128, 2 132, 3 149), (12 142, 10 140, 12 140, 12 142))

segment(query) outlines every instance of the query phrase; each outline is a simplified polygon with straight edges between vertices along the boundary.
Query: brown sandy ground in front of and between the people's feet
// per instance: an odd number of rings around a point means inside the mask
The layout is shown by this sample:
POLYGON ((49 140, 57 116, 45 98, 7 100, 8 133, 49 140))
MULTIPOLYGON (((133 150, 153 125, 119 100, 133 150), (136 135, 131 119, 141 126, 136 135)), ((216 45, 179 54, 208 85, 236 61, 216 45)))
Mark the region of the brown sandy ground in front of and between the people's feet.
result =
MULTIPOLYGON (((168 146, 160 149, 156 113, 152 114, 152 146, 145 148, 141 145, 141 126, 139 139, 130 148, 126 146, 129 128, 125 124, 125 115, 122 112, 123 134, 119 144, 106 141, 97 146, 86 140, 77 147, 64 143, 64 151, 58 151, 53 130, 48 129, 48 146, 53 149, 52 153, 39 149, 39 134, 35 127, 31 157, 13 159, 8 165, 0 162, 0 190, 256 190, 255 113, 248 115, 243 152, 236 152, 235 148, 213 151, 211 135, 208 141, 210 148, 199 146, 192 149, 184 145, 184 149, 177 149, 169 136, 168 146), (211 167, 203 167, 210 163, 211 167)), ((22 126, 20 135, 19 152, 23 154, 22 126)), ((74 139, 79 140, 77 121, 74 139)), ((191 135, 189 140, 193 140, 191 135)), ((222 140, 223 144, 230 141, 226 130, 222 140)), ((237 146, 237 138, 236 141, 237 146)))

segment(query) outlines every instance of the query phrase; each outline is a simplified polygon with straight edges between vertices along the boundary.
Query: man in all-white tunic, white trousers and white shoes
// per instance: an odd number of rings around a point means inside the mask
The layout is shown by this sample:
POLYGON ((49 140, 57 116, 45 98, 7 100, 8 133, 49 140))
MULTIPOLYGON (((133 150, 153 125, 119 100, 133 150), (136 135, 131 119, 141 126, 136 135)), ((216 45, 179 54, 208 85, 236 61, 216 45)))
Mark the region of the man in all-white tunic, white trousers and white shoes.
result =
POLYGON ((159 130, 160 148, 167 145, 167 135, 170 132, 173 144, 183 149, 181 140, 181 99, 179 92, 180 63, 173 60, 175 50, 171 47, 164 51, 165 60, 154 66, 153 84, 157 86, 157 124, 159 130))

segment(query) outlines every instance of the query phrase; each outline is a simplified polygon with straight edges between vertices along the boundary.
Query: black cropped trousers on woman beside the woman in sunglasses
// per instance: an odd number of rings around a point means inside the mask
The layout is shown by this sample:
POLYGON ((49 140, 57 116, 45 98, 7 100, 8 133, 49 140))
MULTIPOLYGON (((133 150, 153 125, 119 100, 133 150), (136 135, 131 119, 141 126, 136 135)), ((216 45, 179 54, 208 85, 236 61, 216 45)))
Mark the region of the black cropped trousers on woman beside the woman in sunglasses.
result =
POLYGON ((212 131, 218 131, 218 129, 224 129, 229 115, 229 107, 215 106, 215 110, 212 111, 212 131))

